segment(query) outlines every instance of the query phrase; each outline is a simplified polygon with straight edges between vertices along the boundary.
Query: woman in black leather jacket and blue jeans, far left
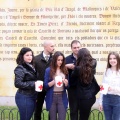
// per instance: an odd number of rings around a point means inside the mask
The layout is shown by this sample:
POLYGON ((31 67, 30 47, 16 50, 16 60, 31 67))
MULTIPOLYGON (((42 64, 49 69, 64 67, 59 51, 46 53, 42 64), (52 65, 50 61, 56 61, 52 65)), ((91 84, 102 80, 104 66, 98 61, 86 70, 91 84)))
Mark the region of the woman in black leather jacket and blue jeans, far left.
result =
POLYGON ((33 65, 33 51, 24 47, 20 50, 14 70, 15 87, 18 88, 15 101, 20 112, 20 120, 30 120, 35 110, 37 73, 33 65))

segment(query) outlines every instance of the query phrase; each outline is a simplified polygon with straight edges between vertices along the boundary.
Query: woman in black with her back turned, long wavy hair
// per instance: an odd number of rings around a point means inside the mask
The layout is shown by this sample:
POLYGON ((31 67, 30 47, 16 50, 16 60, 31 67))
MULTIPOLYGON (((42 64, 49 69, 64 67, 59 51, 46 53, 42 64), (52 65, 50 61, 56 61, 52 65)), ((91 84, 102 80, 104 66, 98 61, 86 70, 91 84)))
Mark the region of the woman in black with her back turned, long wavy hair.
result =
POLYGON ((77 55, 76 67, 71 76, 76 81, 80 120, 88 120, 91 107, 96 101, 95 95, 92 95, 88 89, 92 81, 95 80, 95 68, 96 60, 92 58, 88 49, 81 48, 77 55), (82 92, 81 88, 88 89, 88 91, 82 92))

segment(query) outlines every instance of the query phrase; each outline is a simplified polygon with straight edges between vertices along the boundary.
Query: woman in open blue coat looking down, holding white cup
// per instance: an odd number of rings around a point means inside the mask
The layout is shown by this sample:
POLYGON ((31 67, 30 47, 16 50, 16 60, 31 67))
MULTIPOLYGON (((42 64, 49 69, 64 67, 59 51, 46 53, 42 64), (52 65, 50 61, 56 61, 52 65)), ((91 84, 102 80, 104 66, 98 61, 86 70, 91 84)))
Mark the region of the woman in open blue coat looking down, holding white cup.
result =
POLYGON ((44 87, 47 90, 46 108, 50 114, 50 120, 65 120, 68 106, 66 88, 68 87, 68 71, 65 67, 64 55, 57 51, 53 55, 51 65, 45 71, 44 87), (57 79, 58 78, 58 81, 57 79))

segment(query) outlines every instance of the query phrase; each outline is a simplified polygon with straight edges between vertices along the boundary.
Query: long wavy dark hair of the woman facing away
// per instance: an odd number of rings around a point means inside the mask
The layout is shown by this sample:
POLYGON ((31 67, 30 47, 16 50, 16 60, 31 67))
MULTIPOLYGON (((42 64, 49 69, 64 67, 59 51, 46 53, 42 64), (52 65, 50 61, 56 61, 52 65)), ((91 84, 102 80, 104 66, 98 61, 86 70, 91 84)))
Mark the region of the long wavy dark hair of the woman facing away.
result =
POLYGON ((93 59, 88 49, 82 48, 78 51, 76 65, 80 66, 80 79, 82 82, 89 84, 93 77, 93 59))

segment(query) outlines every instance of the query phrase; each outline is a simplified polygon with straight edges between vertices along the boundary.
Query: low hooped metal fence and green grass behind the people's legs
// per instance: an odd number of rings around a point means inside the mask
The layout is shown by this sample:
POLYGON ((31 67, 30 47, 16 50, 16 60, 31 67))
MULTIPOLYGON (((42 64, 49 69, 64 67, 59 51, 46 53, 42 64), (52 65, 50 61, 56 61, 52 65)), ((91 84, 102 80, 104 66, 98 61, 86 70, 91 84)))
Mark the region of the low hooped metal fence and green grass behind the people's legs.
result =
MULTIPOLYGON (((66 120, 70 120, 69 109, 67 109, 66 120)), ((46 109, 42 110, 42 120, 49 120, 49 113, 46 109)), ((104 120, 103 113, 98 109, 93 109, 90 112, 89 120, 104 120)), ((19 120, 19 111, 17 108, 0 108, 0 120, 19 120)), ((32 116, 31 120, 34 120, 32 116)))

